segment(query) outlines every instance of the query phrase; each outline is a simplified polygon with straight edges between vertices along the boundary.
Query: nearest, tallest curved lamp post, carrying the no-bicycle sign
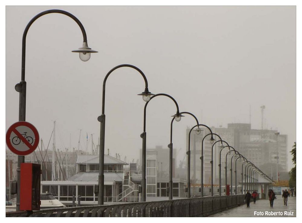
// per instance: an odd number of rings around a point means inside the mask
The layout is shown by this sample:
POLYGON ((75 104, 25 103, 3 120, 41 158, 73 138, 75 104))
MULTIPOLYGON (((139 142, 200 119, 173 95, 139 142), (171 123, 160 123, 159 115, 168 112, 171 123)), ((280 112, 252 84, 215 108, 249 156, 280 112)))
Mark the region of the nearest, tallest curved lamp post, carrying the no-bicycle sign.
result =
MULTIPOLYGON (((83 61, 87 61, 90 58, 90 53, 96 53, 97 51, 92 50, 87 45, 87 35, 86 31, 80 22, 73 14, 70 14, 67 11, 58 10, 58 9, 51 9, 47 11, 43 11, 33 17, 23 32, 22 37, 22 57, 21 57, 21 81, 15 85, 15 90, 19 92, 19 121, 25 121, 25 114, 26 114, 26 81, 25 81, 25 53, 26 53, 26 36, 28 33, 29 28, 37 20, 39 17, 50 14, 50 13, 59 13, 67 15, 68 17, 72 18, 80 27, 82 34, 83 34, 83 47, 79 48, 76 51, 72 52, 79 52, 80 58, 83 61), (89 55, 89 58, 88 58, 89 55), (88 58, 88 59, 87 59, 88 58)), ((17 198, 16 198, 16 210, 20 210, 20 166, 21 163, 24 163, 24 156, 18 155, 18 166, 17 166, 17 198)))

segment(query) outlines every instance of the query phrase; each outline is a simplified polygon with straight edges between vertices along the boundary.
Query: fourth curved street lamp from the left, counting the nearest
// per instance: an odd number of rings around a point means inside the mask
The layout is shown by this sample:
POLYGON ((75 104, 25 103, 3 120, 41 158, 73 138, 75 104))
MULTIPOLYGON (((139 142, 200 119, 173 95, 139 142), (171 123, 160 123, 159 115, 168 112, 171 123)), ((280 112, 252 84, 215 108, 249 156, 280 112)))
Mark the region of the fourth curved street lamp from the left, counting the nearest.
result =
MULTIPOLYGON (((196 120, 196 123, 198 125, 198 128, 196 129, 196 134, 199 135, 200 132, 202 131, 200 128, 199 128, 199 123, 198 123, 198 120, 196 118, 195 115, 193 115, 192 113, 190 112, 187 112, 187 111, 183 111, 183 112, 180 112, 179 114, 188 114, 188 115, 191 115, 195 120, 196 120)), ((171 127, 170 127, 170 144, 168 145, 168 148, 170 149, 170 154, 169 154, 169 200, 172 200, 173 199, 173 181, 172 181, 172 153, 173 153, 173 143, 172 143, 172 130, 173 130, 173 121, 174 121, 175 117, 172 118, 172 121, 171 121, 171 127)))

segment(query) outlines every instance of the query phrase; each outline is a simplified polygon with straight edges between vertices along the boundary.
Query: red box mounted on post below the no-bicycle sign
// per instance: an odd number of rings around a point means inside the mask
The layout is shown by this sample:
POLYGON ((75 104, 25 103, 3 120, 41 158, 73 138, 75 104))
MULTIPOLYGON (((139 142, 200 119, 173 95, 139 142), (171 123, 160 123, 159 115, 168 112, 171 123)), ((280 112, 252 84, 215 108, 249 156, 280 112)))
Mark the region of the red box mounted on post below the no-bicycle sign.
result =
POLYGON ((40 210, 41 165, 21 163, 20 211, 40 210))

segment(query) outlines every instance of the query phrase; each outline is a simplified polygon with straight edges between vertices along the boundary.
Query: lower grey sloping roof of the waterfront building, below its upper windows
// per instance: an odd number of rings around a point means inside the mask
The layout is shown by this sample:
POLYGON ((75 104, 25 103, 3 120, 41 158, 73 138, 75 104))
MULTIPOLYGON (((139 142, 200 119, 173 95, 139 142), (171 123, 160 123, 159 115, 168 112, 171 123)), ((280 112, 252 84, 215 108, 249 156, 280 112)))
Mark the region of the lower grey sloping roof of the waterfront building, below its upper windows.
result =
MULTIPOLYGON (((104 181, 123 181, 123 172, 104 172, 104 181)), ((98 181, 98 172, 80 172, 68 178, 68 181, 98 181)))

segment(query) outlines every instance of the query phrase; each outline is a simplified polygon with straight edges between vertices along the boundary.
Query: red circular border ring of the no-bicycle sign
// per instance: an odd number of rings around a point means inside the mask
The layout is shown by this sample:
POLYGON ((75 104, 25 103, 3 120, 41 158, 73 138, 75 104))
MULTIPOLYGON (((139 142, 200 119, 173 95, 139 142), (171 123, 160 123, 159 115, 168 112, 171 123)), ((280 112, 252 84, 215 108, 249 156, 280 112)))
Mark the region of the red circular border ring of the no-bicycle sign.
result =
POLYGON ((15 122, 8 128, 8 130, 6 132, 6 145, 7 145, 8 149, 11 150, 11 152, 13 152, 17 155, 28 155, 28 154, 31 154, 32 152, 34 152, 34 150, 37 148, 37 146, 39 144, 39 140, 40 140, 40 137, 39 137, 38 130, 36 129, 36 127, 34 127, 33 124, 31 124, 27 121, 15 122), (35 141, 34 141, 34 145, 33 145, 34 149, 29 148, 26 151, 19 151, 19 150, 15 149, 13 145, 11 145, 11 140, 10 140, 11 133, 12 133, 13 129, 15 129, 18 126, 29 127, 34 132, 34 136, 35 136, 35 141))

